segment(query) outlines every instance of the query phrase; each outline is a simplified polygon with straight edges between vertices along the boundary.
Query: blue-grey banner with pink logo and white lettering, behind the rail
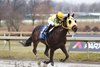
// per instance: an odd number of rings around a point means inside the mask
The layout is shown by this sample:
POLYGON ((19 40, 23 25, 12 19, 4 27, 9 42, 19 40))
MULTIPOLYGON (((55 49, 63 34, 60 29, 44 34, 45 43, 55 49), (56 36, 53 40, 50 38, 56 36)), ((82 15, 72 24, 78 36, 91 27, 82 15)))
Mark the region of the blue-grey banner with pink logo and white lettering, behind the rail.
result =
MULTIPOLYGON (((100 37, 100 35, 74 35, 74 37, 100 37)), ((69 51, 94 51, 100 52, 100 42, 71 42, 69 51)))

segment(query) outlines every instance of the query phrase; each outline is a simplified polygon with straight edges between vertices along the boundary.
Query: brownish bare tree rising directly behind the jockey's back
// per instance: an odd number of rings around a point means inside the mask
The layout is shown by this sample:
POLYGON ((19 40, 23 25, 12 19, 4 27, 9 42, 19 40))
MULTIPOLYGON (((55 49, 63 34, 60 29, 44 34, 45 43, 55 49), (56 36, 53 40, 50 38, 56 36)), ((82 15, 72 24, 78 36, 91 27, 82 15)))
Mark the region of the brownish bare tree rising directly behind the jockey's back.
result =
POLYGON ((50 6, 50 0, 45 0, 41 3, 39 3, 39 5, 36 6, 36 14, 40 15, 40 19, 42 20, 42 24, 44 24, 44 19, 48 18, 48 15, 51 13, 52 11, 52 7, 50 6))

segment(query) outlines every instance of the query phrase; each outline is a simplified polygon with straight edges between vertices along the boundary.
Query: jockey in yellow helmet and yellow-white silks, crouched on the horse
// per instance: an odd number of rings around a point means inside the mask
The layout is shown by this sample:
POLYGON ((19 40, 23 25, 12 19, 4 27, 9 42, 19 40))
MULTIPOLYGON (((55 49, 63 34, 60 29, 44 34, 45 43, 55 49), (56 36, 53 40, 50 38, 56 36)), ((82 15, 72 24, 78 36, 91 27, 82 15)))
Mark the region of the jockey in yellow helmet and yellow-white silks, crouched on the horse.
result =
POLYGON ((48 29, 46 30, 46 33, 48 34, 49 30, 52 27, 56 27, 61 25, 61 22, 63 21, 64 15, 62 12, 58 12, 56 15, 53 15, 48 18, 48 29))

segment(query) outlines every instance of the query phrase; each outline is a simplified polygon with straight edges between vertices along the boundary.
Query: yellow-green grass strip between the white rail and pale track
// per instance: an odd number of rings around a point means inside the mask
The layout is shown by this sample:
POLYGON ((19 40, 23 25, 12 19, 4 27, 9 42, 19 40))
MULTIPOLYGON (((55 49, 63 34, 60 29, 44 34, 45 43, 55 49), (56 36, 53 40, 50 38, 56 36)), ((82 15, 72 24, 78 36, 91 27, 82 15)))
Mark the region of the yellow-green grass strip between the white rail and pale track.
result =
MULTIPOLYGON (((69 42, 66 45, 68 48, 69 42)), ((44 55, 45 45, 39 43, 38 45, 38 53, 35 56, 32 52, 33 47, 23 47, 19 44, 18 41, 11 42, 11 49, 9 50, 8 44, 4 45, 3 41, 0 41, 0 58, 1 59, 17 59, 17 60, 46 60, 48 59, 44 55)), ((54 60, 59 61, 59 59, 64 58, 64 54, 61 50, 57 50, 54 54, 54 60)), ((87 52, 75 52, 69 53, 69 59, 66 62, 100 62, 100 53, 89 53, 89 58, 87 58, 87 52)))

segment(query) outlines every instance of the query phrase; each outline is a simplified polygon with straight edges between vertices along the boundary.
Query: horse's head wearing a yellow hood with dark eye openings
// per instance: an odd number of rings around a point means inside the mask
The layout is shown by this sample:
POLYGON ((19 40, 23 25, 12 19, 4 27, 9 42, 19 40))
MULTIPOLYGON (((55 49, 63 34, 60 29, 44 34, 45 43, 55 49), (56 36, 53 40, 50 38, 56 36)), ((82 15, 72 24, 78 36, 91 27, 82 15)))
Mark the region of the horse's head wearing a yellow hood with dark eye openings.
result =
POLYGON ((76 32, 77 23, 76 23, 76 20, 74 19, 74 14, 73 15, 68 14, 66 17, 64 17, 62 26, 66 29, 69 29, 69 30, 72 29, 72 31, 76 32))

